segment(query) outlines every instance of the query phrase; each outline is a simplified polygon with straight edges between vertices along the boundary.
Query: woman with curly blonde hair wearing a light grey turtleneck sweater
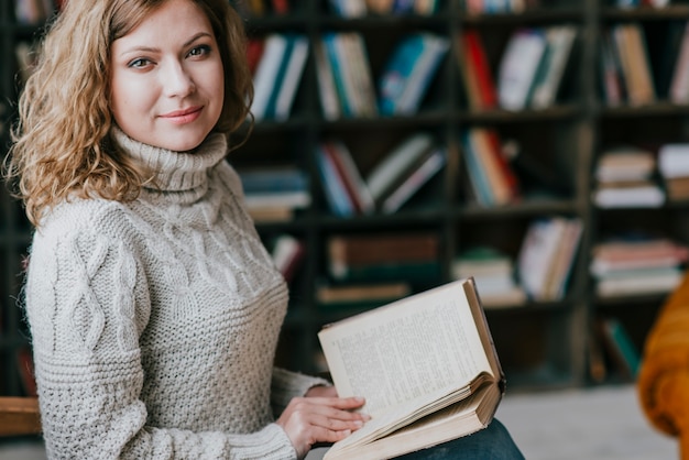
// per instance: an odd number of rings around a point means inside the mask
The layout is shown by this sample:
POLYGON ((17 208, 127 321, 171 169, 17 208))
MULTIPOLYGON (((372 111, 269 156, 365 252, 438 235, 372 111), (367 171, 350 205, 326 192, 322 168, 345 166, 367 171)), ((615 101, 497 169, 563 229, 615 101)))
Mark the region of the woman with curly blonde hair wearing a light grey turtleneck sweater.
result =
POLYGON ((273 369, 287 291, 223 161, 248 116, 227 0, 69 0, 9 176, 50 458, 303 458, 361 398, 273 369))

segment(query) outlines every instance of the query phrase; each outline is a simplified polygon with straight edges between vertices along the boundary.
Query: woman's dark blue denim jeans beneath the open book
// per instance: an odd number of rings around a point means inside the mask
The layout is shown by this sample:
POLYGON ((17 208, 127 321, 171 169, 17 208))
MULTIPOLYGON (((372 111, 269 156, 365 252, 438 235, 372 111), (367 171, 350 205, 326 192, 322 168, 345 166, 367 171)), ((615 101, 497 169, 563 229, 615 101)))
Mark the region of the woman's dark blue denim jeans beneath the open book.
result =
MULTIPOLYGON (((327 449, 315 449, 306 460, 322 458, 327 449)), ((429 449, 397 457, 397 460, 524 460, 507 429, 499 420, 480 431, 429 449)))

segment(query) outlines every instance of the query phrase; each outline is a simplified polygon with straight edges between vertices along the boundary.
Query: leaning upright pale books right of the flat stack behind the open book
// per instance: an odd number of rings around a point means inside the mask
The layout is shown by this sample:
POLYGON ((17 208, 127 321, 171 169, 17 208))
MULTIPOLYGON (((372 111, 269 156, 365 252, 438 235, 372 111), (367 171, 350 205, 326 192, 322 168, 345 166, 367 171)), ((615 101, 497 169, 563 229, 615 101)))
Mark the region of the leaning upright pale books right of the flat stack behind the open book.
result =
POLYGON ((529 298, 560 300, 581 239, 579 218, 549 217, 527 228, 517 255, 517 277, 529 298))

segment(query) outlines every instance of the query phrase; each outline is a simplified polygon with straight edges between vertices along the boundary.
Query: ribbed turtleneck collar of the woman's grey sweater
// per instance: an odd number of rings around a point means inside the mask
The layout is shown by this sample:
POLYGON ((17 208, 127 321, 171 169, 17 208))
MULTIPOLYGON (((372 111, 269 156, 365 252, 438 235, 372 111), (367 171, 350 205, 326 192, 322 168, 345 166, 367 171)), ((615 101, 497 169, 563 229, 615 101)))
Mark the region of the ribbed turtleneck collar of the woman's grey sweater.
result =
POLYGON ((175 152, 147 145, 131 139, 117 127, 112 139, 121 151, 155 174, 154 185, 145 187, 153 193, 179 193, 201 196, 208 188, 208 172, 227 155, 227 138, 210 133, 192 152, 175 152))

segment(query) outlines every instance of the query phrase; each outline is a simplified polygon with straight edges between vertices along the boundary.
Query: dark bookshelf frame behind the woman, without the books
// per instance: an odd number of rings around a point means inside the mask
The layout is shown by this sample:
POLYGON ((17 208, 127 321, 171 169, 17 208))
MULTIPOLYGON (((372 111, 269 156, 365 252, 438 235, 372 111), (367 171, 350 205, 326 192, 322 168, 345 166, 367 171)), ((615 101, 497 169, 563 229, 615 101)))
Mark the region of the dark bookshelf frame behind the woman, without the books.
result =
MULTIPOLYGON (((284 14, 272 13, 270 9, 263 15, 248 14, 247 24, 251 37, 281 33, 308 39, 309 53, 291 114, 280 122, 262 119, 250 140, 228 157, 237 168, 291 165, 308 177, 309 206, 296 210, 291 219, 256 223, 266 245, 289 234, 303 242, 305 253, 289 283, 291 305, 278 363, 307 373, 322 371, 317 331, 324 324, 367 308, 365 305, 324 307, 317 303, 317 286, 333 282, 328 271, 328 242, 332 237, 415 231, 434 234, 439 248, 439 271, 430 278, 409 278, 412 289, 420 291, 450 281, 455 260, 471 248, 490 245, 516 260, 529 224, 557 216, 578 219, 582 224, 565 295, 486 309, 510 387, 529 391, 624 380, 610 362, 603 363, 609 368, 604 375, 594 371, 600 368, 597 368, 600 341, 594 324, 600 317, 617 318, 641 349, 666 294, 598 296, 595 278, 589 271, 592 249, 608 234, 627 228, 659 232, 687 243, 689 218, 687 204, 681 201, 656 208, 597 207, 591 198, 595 162, 601 152, 620 143, 689 142, 689 106, 670 102, 667 88, 659 90, 656 100, 649 103, 609 105, 599 78, 600 45, 606 26, 641 24, 653 52, 652 67, 657 66, 658 55, 663 53, 653 46, 660 46, 665 25, 689 21, 689 2, 622 9, 602 0, 540 0, 518 13, 474 14, 464 10, 463 2, 441 0, 437 12, 429 15, 359 18, 337 15, 326 0, 288 3, 291 9, 284 14), (458 62, 458 40, 463 31, 478 31, 490 69, 496 76, 515 31, 562 24, 573 25, 578 34, 556 103, 516 111, 471 109, 458 62), (430 32, 447 37, 450 48, 413 114, 327 119, 320 107, 314 44, 328 32, 356 32, 363 39, 374 83, 395 45, 409 33, 430 32), (461 135, 473 128, 495 130, 503 143, 516 152, 512 167, 521 182, 521 199, 495 207, 481 206, 472 199, 461 135), (446 146, 447 156, 442 169, 408 202, 393 213, 338 217, 330 210, 315 154, 324 140, 343 142, 365 177, 394 146, 416 132, 430 133, 446 146)), ((18 94, 14 51, 20 42, 37 36, 40 28, 41 24, 19 23, 13 2, 2 1, 0 50, 7 56, 0 66, 0 96, 7 109, 0 114, 6 127, 0 134, 3 145, 9 142, 7 124, 13 116, 10 108, 18 94)), ((31 229, 20 206, 4 188, 0 190, 0 394, 21 395, 24 390, 18 372, 19 351, 29 340, 14 298, 20 293, 18 273, 31 229)))

